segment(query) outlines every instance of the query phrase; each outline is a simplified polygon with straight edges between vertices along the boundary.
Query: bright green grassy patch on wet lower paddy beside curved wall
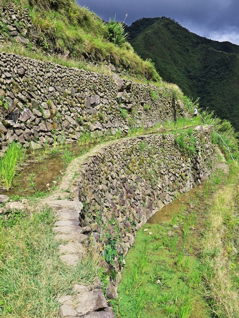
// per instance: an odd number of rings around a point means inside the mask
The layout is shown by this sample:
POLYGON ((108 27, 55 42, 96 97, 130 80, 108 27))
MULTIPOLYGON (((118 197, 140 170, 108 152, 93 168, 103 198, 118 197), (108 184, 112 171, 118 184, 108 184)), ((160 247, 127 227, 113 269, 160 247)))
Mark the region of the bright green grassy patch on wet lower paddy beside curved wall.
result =
POLYGON ((197 261, 188 256, 177 235, 168 236, 172 229, 169 222, 147 224, 138 231, 114 303, 118 317, 186 318, 191 313, 197 317, 198 310, 200 317, 210 317, 201 297, 201 285, 193 278, 195 273, 200 277, 197 261), (145 227, 152 235, 144 232, 145 227))

